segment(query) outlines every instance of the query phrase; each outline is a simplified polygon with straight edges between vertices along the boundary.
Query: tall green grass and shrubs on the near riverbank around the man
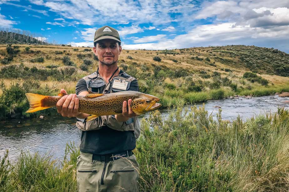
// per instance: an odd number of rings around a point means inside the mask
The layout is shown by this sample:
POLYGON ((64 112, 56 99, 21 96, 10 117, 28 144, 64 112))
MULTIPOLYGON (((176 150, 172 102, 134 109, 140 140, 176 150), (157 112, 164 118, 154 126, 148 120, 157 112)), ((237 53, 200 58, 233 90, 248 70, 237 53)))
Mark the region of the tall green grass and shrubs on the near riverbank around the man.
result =
MULTIPOLYGON (((221 109, 214 120, 204 106, 189 111, 184 104, 179 99, 167 120, 158 111, 141 120, 134 149, 140 191, 288 191, 288 111, 229 123, 221 109)), ((78 155, 73 143, 62 160, 23 152, 11 162, 7 151, 0 157, 0 191, 77 191, 78 155)))

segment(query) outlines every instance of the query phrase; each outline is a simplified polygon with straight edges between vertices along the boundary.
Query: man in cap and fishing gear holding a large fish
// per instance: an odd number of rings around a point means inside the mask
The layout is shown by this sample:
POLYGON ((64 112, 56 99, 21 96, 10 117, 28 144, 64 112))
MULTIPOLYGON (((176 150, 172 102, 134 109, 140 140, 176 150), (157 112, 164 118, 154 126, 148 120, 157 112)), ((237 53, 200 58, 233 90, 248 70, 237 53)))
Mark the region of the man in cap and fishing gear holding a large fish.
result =
MULTIPOLYGON (((137 80, 117 66, 122 50, 120 43, 118 31, 110 26, 95 31, 93 50, 99 59, 99 68, 78 81, 76 94, 139 91, 137 80)), ((61 93, 66 91, 61 89, 61 93)), ((82 130, 77 161, 78 190, 138 191, 139 165, 132 153, 137 115, 130 108, 131 99, 123 102, 121 114, 86 122, 89 114, 78 111, 76 94, 61 98, 57 110, 63 117, 76 117, 76 126, 82 130)))

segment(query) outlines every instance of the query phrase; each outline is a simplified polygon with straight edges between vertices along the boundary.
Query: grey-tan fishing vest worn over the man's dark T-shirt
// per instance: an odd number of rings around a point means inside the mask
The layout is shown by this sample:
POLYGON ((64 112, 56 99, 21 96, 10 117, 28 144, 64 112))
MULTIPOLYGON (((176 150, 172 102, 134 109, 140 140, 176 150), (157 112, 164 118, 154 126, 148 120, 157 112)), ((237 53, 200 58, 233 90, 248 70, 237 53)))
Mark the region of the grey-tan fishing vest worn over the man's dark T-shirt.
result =
MULTIPOLYGON (((131 82, 135 80, 134 77, 126 73, 121 73, 113 77, 111 83, 109 82, 108 84, 105 84, 104 79, 99 74, 97 74, 97 72, 87 75, 82 79, 85 80, 87 89, 90 94, 108 94, 119 91, 127 91, 131 82), (122 82, 122 85, 126 86, 119 86, 119 82, 122 82)), ((116 119, 112 121, 111 118, 114 117, 107 115, 98 117, 95 120, 88 122, 77 121, 76 126, 83 131, 97 130, 100 129, 102 126, 108 126, 109 128, 118 131, 134 131, 135 137, 139 137, 140 127, 138 117, 133 117, 133 119, 130 118, 127 122, 118 122, 116 119), (123 125, 120 126, 120 123, 122 123, 123 125)))

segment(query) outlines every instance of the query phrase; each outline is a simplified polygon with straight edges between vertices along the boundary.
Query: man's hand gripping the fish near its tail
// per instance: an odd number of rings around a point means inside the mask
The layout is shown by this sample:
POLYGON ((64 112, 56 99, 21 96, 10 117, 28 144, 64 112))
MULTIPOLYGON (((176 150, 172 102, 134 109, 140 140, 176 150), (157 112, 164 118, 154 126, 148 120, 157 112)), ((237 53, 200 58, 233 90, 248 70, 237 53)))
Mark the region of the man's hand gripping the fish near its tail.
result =
MULTIPOLYGON (((60 90, 60 93, 67 94, 64 89, 60 90)), ((57 112, 62 115, 62 117, 77 117, 77 118, 87 118, 89 115, 85 113, 80 113, 79 99, 76 94, 65 95, 56 103, 57 112)))

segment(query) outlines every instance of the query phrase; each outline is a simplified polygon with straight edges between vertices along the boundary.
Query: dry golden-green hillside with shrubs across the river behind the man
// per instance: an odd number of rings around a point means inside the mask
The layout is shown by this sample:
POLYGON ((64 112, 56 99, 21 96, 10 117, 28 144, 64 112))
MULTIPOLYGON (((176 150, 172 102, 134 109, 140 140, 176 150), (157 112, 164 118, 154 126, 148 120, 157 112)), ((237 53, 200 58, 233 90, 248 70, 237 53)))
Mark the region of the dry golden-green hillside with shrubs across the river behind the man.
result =
MULTIPOLYGON (((92 48, 52 45, 0 45, 0 119, 28 114, 24 93, 75 93, 77 81, 98 66, 92 48)), ((216 46, 175 50, 123 50, 119 67, 139 81, 140 92, 163 107, 238 95, 289 91, 289 55, 273 48, 216 46)))

